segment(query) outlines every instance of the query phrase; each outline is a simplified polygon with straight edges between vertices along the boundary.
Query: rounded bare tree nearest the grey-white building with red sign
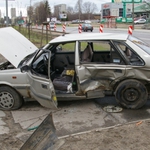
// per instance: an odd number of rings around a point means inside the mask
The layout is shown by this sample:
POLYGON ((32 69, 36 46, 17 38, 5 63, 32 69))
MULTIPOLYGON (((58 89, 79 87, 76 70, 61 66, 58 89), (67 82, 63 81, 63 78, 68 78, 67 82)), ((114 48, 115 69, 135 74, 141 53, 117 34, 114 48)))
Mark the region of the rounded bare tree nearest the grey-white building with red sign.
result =
POLYGON ((88 15, 88 19, 90 19, 91 14, 97 11, 97 6, 95 3, 85 2, 83 4, 83 12, 88 15))

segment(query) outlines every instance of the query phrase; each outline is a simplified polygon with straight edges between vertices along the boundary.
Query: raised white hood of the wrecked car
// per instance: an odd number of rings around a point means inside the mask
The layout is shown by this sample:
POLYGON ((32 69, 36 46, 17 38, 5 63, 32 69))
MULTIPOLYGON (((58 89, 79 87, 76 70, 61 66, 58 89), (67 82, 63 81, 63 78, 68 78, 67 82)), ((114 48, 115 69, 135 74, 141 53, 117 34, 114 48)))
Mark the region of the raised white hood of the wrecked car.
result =
POLYGON ((16 68, 24 57, 37 49, 33 43, 14 28, 0 28, 0 54, 16 68))

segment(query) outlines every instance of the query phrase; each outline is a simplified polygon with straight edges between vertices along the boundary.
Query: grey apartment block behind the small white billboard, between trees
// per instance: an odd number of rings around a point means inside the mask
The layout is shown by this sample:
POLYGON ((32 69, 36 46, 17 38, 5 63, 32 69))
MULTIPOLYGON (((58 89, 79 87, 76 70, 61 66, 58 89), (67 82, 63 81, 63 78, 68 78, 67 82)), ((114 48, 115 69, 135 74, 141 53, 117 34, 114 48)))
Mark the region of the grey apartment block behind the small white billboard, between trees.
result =
POLYGON ((59 4, 54 6, 54 17, 59 20, 67 19, 66 4, 59 4))

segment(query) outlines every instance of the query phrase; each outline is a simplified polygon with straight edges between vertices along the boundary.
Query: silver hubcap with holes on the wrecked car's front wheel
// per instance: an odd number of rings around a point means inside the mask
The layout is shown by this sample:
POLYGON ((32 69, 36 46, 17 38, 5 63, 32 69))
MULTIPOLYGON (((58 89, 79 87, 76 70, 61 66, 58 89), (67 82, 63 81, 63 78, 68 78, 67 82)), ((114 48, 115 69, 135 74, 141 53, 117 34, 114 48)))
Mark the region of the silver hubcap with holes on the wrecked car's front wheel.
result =
POLYGON ((1 92, 0 93, 0 106, 3 108, 12 108, 14 105, 14 98, 8 92, 1 92))

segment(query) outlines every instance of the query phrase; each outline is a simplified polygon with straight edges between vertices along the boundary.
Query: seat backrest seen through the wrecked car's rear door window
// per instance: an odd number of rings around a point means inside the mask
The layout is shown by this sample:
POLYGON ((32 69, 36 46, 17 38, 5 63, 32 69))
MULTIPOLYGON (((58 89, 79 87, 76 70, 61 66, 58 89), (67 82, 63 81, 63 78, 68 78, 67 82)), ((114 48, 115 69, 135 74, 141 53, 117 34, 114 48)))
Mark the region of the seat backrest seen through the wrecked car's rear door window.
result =
POLYGON ((92 51, 91 45, 88 44, 87 47, 85 48, 85 50, 83 51, 82 61, 83 62, 91 62, 92 57, 93 57, 93 51, 92 51))

